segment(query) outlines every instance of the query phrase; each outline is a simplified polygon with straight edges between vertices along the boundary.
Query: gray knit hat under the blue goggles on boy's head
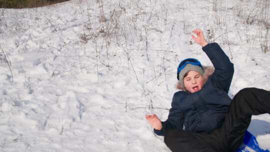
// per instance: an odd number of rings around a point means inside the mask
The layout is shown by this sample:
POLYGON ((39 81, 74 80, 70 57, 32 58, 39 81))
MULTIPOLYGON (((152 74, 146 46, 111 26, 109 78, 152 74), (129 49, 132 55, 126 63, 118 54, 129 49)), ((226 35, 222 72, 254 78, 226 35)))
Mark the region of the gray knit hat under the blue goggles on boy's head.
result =
POLYGON ((183 84, 183 76, 186 72, 190 71, 190 70, 194 70, 198 73, 200 73, 201 75, 204 73, 204 70, 198 66, 198 65, 193 65, 193 64, 186 64, 185 67, 183 69, 181 69, 181 71, 178 73, 178 78, 179 78, 179 83, 182 87, 184 87, 183 84))

